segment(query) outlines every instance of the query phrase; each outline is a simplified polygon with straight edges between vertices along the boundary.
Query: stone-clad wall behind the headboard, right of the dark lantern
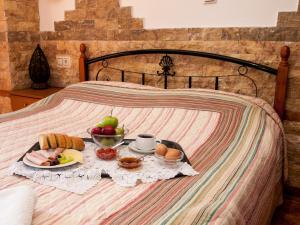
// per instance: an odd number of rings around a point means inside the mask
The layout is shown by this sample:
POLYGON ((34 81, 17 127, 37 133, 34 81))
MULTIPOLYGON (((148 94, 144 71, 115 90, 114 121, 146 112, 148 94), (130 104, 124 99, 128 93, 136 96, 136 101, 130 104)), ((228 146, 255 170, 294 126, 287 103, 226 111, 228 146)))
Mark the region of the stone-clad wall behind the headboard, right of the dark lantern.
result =
MULTIPOLYGON (((295 21, 300 18, 299 12, 282 12, 279 14, 278 27, 274 28, 203 28, 203 29, 157 29, 145 30, 142 20, 132 18, 130 7, 120 7, 118 0, 77 0, 76 9, 65 13, 65 21, 55 23, 55 32, 41 33, 41 43, 50 61, 52 77, 50 83, 54 86, 65 86, 78 81, 78 46, 81 42, 87 44, 89 56, 98 56, 111 52, 141 48, 178 48, 215 52, 233 57, 252 60, 272 67, 279 63, 281 46, 288 44, 292 49, 290 58, 291 73, 287 110, 289 115, 300 113, 300 82, 299 58, 300 32, 295 21), (71 69, 56 67, 55 55, 69 54, 72 58, 71 69), (62 76, 63 74, 63 76, 62 76)), ((110 62, 112 66, 130 70, 156 73, 158 57, 136 57, 134 60, 122 59, 110 62), (143 60, 145 60, 143 62, 143 60), (130 63, 129 63, 130 62, 130 63), (134 63, 132 63, 134 62, 134 63), (146 63, 146 64, 145 64, 146 63), (147 66, 144 66, 147 65, 147 66)), ((177 75, 216 75, 237 74, 236 66, 212 60, 182 59, 175 57, 177 75), (192 66, 186 66, 187 63, 192 66), (197 66, 195 66, 195 64, 197 66)), ((97 68, 91 74, 92 79, 97 68)), ((107 71, 110 79, 118 80, 120 76, 113 71, 107 71)), ((250 71, 250 76, 259 81, 259 97, 273 100, 274 77, 261 76, 256 71, 250 71)), ((139 77, 126 79, 140 81, 139 77)), ((106 79, 107 76, 103 76, 106 79)), ((152 85, 162 86, 158 78, 149 78, 152 85)), ((171 87, 184 87, 183 80, 174 79, 171 87)), ((247 80, 240 85, 237 79, 223 79, 221 89, 253 95, 253 87, 247 80)), ((211 79, 196 82, 195 87, 212 87, 211 79)))

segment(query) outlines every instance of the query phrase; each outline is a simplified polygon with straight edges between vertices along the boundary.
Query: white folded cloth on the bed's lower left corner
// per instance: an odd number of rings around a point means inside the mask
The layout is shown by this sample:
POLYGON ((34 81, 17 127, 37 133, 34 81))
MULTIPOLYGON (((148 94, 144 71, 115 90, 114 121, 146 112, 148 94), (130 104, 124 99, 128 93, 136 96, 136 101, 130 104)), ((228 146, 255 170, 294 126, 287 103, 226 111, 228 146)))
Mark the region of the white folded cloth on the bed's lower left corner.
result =
POLYGON ((0 223, 30 225, 36 195, 30 186, 18 186, 0 191, 0 223))

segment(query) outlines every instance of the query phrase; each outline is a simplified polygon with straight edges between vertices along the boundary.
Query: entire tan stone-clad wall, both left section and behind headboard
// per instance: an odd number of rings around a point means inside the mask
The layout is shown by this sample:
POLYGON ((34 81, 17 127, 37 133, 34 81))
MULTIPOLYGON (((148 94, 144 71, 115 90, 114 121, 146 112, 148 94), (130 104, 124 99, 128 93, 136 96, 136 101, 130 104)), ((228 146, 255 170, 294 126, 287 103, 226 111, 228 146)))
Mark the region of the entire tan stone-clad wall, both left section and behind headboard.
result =
MULTIPOLYGON (((50 84, 66 86, 79 81, 78 57, 79 45, 88 46, 89 57, 130 49, 173 48, 190 49, 225 54, 255 61, 276 68, 283 45, 291 47, 291 71, 288 81, 287 111, 288 120, 284 122, 289 139, 289 159, 292 171, 289 184, 300 187, 300 173, 295 160, 299 158, 299 149, 294 143, 300 136, 300 31, 298 12, 282 12, 278 17, 278 26, 272 28, 194 28, 194 29, 143 29, 143 20, 131 16, 130 7, 120 7, 118 0, 76 0, 76 9, 65 13, 65 20, 55 23, 55 32, 38 33, 37 1, 8 1, 7 43, 9 45, 9 63, 11 88, 29 87, 27 73, 30 56, 38 41, 51 67, 50 84), (22 10, 18 10, 23 7, 22 10), (24 10, 24 7, 27 7, 24 10), (19 12, 21 11, 21 12, 19 12), (23 14, 22 14, 23 12, 23 14), (17 13, 18 16, 14 16, 17 13), (30 15, 29 15, 30 14, 30 15), (70 69, 56 66, 56 55, 71 56, 70 69), (296 171, 296 172, 295 172, 296 171)), ((1 7, 1 3, 0 3, 1 7)), ((1 37, 1 36, 0 36, 1 37)), ((1 40, 1 38, 0 38, 1 40)), ((109 65, 118 68, 125 66, 129 70, 156 73, 160 69, 160 56, 128 57, 110 61, 109 65)), ((177 75, 232 75, 237 67, 229 63, 207 59, 174 57, 177 75)), ((99 66, 92 68, 91 78, 99 66)), ((1 65, 0 65, 1 67, 1 65)), ((257 81, 258 95, 270 103, 274 95, 274 77, 250 70, 251 78, 257 81)), ((119 80, 120 75, 113 70, 105 70, 101 79, 119 80), (109 75, 109 76, 108 76, 109 75)), ((127 74, 126 80, 140 82, 140 77, 127 74)), ((185 78, 171 80, 171 88, 184 87, 185 78)), ((213 87, 213 79, 195 79, 194 87, 213 87)), ((162 80, 148 77, 146 82, 162 86, 162 80)), ((222 90, 231 90, 253 95, 253 86, 249 81, 223 78, 222 90)), ((1 99, 0 99, 1 100, 1 99)), ((0 101, 1 105, 1 101, 0 101)), ((297 160, 296 160, 297 162, 297 160)), ((299 162, 298 162, 299 164, 299 162)))

